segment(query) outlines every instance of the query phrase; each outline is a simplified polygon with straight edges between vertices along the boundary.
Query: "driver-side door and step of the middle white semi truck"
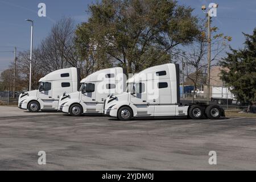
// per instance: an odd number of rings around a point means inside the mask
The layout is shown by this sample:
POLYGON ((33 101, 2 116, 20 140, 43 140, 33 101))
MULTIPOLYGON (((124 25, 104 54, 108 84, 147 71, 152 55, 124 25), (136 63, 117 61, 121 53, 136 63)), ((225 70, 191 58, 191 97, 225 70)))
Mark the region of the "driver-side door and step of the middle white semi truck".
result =
POLYGON ((85 92, 81 94, 81 100, 86 105, 84 113, 96 113, 96 84, 86 83, 85 92))

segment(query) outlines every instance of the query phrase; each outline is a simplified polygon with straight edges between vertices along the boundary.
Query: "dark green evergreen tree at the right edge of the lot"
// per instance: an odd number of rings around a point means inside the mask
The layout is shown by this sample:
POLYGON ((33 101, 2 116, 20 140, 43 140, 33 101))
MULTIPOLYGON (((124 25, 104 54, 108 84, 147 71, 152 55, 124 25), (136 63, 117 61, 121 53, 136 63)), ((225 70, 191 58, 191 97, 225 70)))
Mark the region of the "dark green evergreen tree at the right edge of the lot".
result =
POLYGON ((232 86, 232 93, 236 94, 239 101, 249 102, 250 106, 256 100, 256 28, 253 35, 244 34, 245 48, 231 49, 228 57, 221 61, 224 68, 229 71, 222 71, 222 80, 232 86))

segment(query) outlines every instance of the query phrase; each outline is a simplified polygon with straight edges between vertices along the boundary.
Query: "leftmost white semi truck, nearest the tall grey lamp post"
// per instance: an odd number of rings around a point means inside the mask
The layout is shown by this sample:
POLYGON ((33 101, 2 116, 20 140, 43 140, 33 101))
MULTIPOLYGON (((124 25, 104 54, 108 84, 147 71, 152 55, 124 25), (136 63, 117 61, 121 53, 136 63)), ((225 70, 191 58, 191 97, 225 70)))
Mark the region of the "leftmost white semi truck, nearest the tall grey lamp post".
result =
POLYGON ((80 88, 80 69, 65 68, 53 71, 40 78, 39 88, 19 95, 18 107, 31 112, 57 110, 63 93, 72 93, 80 88))

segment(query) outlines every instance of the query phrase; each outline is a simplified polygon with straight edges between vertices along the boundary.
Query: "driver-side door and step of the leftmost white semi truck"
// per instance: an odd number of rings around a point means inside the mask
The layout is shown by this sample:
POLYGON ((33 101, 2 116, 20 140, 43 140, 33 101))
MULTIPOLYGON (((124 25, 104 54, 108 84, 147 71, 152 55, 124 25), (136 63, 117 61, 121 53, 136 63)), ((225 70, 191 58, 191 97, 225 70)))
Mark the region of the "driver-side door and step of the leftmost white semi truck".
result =
POLYGON ((39 99, 43 102, 41 109, 53 109, 52 108, 52 82, 42 82, 39 88, 39 99))

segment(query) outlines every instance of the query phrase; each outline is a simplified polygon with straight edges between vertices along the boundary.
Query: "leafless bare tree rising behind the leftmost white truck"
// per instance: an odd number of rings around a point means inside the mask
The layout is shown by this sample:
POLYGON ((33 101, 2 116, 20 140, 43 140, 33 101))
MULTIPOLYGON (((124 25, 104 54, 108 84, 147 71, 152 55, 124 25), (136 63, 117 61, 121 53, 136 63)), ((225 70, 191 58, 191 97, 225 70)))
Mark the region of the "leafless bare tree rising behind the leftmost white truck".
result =
POLYGON ((77 67, 77 56, 74 34, 75 23, 71 18, 62 18, 57 22, 39 47, 40 65, 47 72, 67 67, 77 67))

